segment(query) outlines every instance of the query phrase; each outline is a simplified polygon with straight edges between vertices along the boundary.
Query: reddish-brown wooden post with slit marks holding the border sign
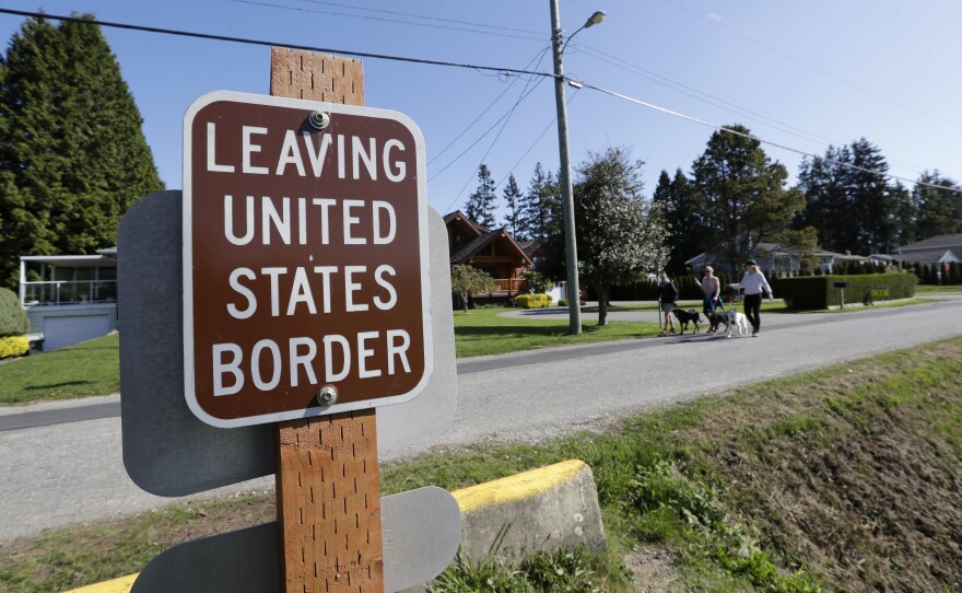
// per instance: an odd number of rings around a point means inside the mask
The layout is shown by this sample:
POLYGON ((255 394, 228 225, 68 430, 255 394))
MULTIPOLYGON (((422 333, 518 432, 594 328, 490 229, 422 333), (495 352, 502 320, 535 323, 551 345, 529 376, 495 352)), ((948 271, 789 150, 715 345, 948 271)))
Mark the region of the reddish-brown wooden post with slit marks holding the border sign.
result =
MULTIPOLYGON (((271 49, 271 95, 364 104, 359 60, 271 49)), ((374 408, 278 425, 278 524, 288 593, 384 591, 374 408)))

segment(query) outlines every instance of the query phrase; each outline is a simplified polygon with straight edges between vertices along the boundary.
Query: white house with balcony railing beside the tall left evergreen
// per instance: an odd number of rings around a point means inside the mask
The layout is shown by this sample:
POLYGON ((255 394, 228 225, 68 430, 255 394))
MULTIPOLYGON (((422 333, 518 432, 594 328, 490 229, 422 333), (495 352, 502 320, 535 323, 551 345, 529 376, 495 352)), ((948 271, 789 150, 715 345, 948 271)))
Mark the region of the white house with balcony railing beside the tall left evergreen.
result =
POLYGON ((25 255, 20 258, 20 304, 31 339, 54 350, 117 328, 117 249, 97 255, 25 255))

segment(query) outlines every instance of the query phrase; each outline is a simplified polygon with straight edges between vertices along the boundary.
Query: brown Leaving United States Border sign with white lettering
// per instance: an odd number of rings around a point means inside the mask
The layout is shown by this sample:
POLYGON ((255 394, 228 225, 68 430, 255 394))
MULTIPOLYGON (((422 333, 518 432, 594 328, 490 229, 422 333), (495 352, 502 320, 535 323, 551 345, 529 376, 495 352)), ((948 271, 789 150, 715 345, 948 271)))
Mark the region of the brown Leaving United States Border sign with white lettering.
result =
POLYGON ((220 91, 189 107, 184 138, 191 410, 237 427, 417 396, 433 359, 417 125, 220 91))

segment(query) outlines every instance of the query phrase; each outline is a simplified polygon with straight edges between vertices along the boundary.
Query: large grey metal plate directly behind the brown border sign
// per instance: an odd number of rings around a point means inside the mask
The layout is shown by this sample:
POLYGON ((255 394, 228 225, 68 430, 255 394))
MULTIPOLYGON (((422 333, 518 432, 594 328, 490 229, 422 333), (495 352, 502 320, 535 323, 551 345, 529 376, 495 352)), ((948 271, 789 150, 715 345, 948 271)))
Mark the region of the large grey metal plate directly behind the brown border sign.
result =
MULTIPOLYGON (((200 421, 184 397, 181 196, 161 191, 137 202, 118 232, 120 417, 130 479, 178 497, 274 473, 270 425, 233 429, 200 421)), ((434 373, 414 399, 377 410, 380 453, 443 430, 457 408, 447 231, 429 216, 434 373)))

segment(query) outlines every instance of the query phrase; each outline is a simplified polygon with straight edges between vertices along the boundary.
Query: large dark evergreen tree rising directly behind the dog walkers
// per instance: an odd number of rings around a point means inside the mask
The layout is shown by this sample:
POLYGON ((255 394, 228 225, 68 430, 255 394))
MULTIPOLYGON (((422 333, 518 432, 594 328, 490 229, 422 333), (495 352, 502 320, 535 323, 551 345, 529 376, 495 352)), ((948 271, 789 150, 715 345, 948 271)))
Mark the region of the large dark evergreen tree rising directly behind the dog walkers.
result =
POLYGON ((805 198, 786 187, 785 166, 772 162, 744 126, 714 132, 692 164, 692 175, 697 210, 705 221, 705 251, 717 253, 729 269, 741 269, 742 260, 754 255, 760 243, 812 247, 813 233, 788 232, 805 198))

